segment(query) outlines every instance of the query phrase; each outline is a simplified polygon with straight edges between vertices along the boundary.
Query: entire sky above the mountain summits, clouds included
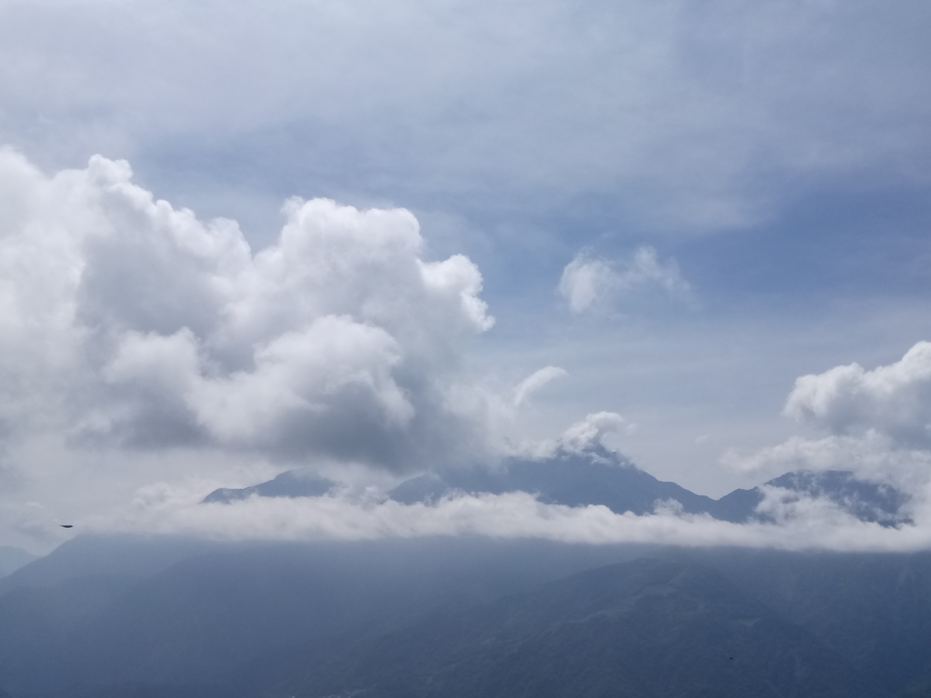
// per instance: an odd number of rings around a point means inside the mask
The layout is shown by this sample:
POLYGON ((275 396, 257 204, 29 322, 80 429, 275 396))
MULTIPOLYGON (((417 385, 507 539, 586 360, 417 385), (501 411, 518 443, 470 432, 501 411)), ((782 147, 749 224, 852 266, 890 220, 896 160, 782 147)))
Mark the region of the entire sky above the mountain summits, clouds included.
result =
POLYGON ((588 427, 716 497, 798 467, 921 490, 929 25, 919 0, 0 0, 0 544, 588 427))

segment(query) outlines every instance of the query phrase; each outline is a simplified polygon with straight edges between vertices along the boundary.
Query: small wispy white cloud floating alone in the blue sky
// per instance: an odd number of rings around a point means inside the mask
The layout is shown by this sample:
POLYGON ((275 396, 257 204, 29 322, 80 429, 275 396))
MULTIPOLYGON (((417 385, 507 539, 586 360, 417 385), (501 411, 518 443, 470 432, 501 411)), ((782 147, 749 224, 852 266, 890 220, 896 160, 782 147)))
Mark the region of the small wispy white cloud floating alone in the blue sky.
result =
POLYGON ((660 262, 654 248, 639 248, 627 262, 615 263, 579 252, 562 270, 559 291, 573 313, 584 313, 644 288, 669 295, 689 290, 675 262, 660 262))

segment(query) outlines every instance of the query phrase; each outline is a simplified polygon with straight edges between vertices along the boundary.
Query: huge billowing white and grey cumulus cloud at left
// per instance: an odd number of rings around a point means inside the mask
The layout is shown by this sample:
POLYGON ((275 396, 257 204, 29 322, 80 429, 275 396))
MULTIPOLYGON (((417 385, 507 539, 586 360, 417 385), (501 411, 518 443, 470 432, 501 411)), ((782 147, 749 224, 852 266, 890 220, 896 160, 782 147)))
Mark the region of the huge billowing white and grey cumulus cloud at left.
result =
MULTIPOLYGON (((134 184, 0 152, 0 421, 75 447, 213 448, 393 470, 479 450, 452 404, 492 327, 479 269, 430 262, 413 215, 293 199, 250 249, 134 184)), ((532 390, 528 387, 527 390, 532 390)))

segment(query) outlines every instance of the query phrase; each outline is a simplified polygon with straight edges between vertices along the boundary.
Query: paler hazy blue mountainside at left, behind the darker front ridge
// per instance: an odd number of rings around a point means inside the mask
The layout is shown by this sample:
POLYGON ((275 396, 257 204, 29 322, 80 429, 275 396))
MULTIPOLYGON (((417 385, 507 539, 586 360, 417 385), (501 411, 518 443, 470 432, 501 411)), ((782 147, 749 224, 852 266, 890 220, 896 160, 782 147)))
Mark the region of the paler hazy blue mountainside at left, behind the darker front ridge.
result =
POLYGON ((0 684, 17 698, 71 698, 81 686, 172 698, 196 686, 207 695, 243 665, 252 676, 237 684, 280 679, 270 658, 290 647, 336 647, 433 608, 471 605, 643 552, 470 539, 143 539, 135 556, 129 547, 125 538, 75 538, 0 593, 0 684), (138 558, 146 552, 152 564, 143 570, 138 558))

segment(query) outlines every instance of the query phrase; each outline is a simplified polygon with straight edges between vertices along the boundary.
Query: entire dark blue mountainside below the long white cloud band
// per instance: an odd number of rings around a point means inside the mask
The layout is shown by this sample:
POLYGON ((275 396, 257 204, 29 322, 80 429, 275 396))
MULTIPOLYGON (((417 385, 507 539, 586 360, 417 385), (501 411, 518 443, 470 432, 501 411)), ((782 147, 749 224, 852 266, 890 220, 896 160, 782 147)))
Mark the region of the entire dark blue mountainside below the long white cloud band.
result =
POLYGON ((931 685, 927 553, 137 544, 79 536, 0 590, 14 698, 918 698, 931 685))

